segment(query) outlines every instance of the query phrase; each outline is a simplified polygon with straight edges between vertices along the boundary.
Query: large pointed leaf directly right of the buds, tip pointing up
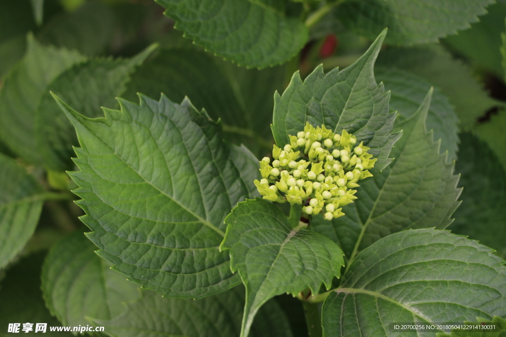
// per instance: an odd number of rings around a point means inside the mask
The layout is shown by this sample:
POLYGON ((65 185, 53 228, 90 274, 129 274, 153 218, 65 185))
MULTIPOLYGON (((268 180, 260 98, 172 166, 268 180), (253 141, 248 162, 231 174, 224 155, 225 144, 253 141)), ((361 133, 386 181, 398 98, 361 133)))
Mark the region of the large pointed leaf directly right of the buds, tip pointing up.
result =
POLYGON ((451 223, 450 215, 458 206, 461 189, 453 163, 439 153, 439 142, 427 132, 425 120, 432 90, 418 111, 394 130, 403 136, 392 150, 395 162, 381 174, 360 184, 357 200, 346 213, 331 222, 322 216, 313 218, 316 231, 338 243, 350 261, 375 241, 409 228, 436 227, 451 223))

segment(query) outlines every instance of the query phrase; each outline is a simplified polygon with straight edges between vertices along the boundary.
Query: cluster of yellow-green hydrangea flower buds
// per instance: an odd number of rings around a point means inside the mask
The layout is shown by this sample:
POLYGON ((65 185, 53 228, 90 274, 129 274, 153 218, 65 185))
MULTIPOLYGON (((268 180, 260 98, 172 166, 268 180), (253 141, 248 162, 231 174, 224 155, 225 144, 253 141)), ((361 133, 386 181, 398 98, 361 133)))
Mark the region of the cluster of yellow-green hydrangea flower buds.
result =
POLYGON ((306 123, 304 131, 289 136, 283 149, 274 145, 273 160, 260 162, 262 179, 255 180, 264 199, 290 205, 303 205, 307 215, 323 213, 326 220, 343 216, 342 206, 357 197, 358 181, 371 177, 368 171, 376 159, 367 153, 368 147, 343 130, 313 127, 306 123))

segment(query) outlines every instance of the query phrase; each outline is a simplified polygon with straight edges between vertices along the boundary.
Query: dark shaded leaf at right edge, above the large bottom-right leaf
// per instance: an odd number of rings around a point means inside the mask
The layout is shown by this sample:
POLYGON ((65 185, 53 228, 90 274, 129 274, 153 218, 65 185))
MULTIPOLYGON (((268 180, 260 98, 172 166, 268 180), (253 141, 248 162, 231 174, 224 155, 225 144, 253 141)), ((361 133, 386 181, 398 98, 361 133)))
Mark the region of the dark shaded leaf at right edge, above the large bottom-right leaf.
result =
POLYGON ((450 229, 506 258, 506 172, 487 143, 470 133, 461 133, 460 142, 455 171, 464 188, 450 229))

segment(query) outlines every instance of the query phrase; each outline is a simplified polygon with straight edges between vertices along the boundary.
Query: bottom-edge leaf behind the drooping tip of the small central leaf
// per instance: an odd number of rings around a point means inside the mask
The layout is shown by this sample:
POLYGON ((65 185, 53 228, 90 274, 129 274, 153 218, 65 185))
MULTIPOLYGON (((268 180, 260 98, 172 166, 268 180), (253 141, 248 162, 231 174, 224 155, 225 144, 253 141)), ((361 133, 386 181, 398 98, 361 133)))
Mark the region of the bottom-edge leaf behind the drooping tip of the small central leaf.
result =
MULTIPOLYGON (((117 337, 236 337, 241 327, 244 288, 192 301, 167 299, 143 291, 137 301, 126 304, 125 312, 112 320, 93 322, 117 337)), ((251 337, 291 337, 291 328, 279 305, 269 301, 251 328, 251 337)))

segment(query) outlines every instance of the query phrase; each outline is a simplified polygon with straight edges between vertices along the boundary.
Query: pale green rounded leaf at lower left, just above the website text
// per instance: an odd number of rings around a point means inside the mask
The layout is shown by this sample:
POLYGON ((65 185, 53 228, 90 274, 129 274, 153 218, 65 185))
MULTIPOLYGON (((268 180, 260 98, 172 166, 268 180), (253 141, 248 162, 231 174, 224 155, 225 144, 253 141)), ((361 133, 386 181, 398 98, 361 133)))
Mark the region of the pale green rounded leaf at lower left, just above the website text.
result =
POLYGON ((44 261, 44 298, 63 325, 86 326, 86 316, 114 318, 124 311, 122 302, 140 298, 139 286, 111 270, 94 248, 76 231, 54 245, 44 261))

